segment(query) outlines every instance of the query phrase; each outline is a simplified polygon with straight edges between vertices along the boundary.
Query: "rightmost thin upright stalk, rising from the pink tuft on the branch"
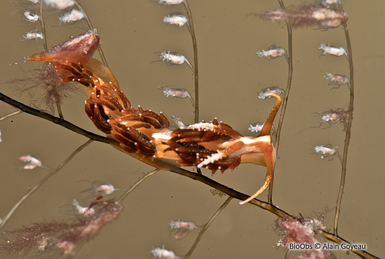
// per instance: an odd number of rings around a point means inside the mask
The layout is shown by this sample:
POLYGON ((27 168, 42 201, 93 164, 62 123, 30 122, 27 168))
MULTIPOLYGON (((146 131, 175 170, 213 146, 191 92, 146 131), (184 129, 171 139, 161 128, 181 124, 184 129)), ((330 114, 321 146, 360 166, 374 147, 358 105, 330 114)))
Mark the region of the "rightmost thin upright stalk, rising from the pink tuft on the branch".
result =
MULTIPOLYGON (((342 10, 342 5, 340 5, 340 11, 342 10)), ((353 69, 353 54, 352 54, 352 43, 350 42, 349 37, 349 29, 346 22, 342 23, 343 29, 345 31, 346 45, 348 47, 348 55, 349 55, 349 70, 350 70, 350 100, 349 100, 349 117, 348 117, 348 125, 346 127, 346 135, 345 135, 345 146, 343 148, 343 160, 342 160, 342 172, 341 172, 341 183, 340 183, 340 191, 338 192, 337 198, 337 206, 336 206, 336 214, 334 217, 334 234, 337 236, 337 227, 338 227, 338 218, 340 217, 340 208, 342 201, 343 188, 345 186, 345 177, 346 177, 346 163, 348 160, 348 147, 350 144, 350 130, 352 128, 352 120, 353 120, 353 102, 354 102, 354 69, 353 69)))

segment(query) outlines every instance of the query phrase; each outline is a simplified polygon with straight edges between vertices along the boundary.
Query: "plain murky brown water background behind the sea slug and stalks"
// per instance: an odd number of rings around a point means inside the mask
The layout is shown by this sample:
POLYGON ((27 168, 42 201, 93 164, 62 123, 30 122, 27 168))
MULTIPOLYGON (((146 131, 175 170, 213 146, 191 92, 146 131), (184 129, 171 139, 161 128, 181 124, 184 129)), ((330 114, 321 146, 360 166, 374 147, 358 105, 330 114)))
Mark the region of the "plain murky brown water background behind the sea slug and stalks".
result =
MULTIPOLYGON (((285 1, 286 5, 295 3, 285 1)), ((134 106, 166 114, 176 114, 185 123, 193 122, 193 110, 187 99, 164 97, 159 85, 186 88, 193 95, 194 80, 187 65, 169 67, 157 60, 152 52, 177 50, 193 62, 192 42, 187 28, 172 25, 167 29, 162 18, 171 12, 184 12, 180 6, 163 6, 142 1, 82 1, 95 28, 99 30, 102 48, 110 69, 122 90, 134 106)), ((384 3, 382 0, 344 1, 349 15, 350 37, 355 68, 355 111, 352 139, 348 155, 345 194, 341 206, 339 234, 357 244, 366 244, 367 251, 384 257, 383 249, 383 144, 384 90, 383 55, 384 3)), ((266 119, 275 100, 259 101, 256 91, 277 85, 286 87, 287 64, 284 58, 267 60, 255 55, 276 44, 287 48, 284 23, 263 21, 259 15, 269 8, 279 8, 278 2, 263 1, 194 1, 189 0, 194 18, 199 55, 199 118, 218 117, 244 135, 250 123, 266 119)), ((33 25, 10 15, 18 9, 2 1, 1 82, 23 77, 13 60, 39 52, 36 43, 19 42, 33 25)), ((46 25, 58 25, 56 13, 45 18, 46 25)), ((84 21, 75 26, 87 26, 84 21)), ((72 26, 47 28, 49 45, 63 41, 83 31, 72 26)), ((315 216, 327 204, 333 207, 338 196, 341 165, 338 159, 328 161, 309 154, 316 145, 339 146, 341 154, 345 133, 339 124, 325 130, 307 129, 318 126, 322 112, 343 107, 348 102, 346 85, 329 91, 323 79, 325 72, 349 74, 344 57, 318 57, 320 43, 346 47, 342 28, 327 31, 302 28, 293 31, 293 84, 276 162, 273 202, 286 212, 315 216), (301 133, 298 133, 303 130, 301 133)), ((96 57, 97 55, 95 55, 96 57)), ((97 57, 99 58, 99 57, 97 57)), ((28 62, 23 69, 37 64, 28 62)), ((1 92, 12 94, 13 85, 0 85, 1 92)), ((37 94, 38 95, 38 94, 37 94)), ((36 96, 37 97, 37 96, 36 96)), ((34 97, 34 98, 36 98, 34 97)), ((28 94, 22 98, 28 103, 28 94)), ((84 113, 85 95, 65 100, 65 119, 92 132, 98 132, 84 113)), ((0 115, 14 109, 1 104, 0 115)), ((276 120, 275 125, 278 125, 276 120)), ((0 144, 0 216, 3 217, 22 194, 47 173, 44 169, 18 170, 23 164, 18 157, 32 154, 44 165, 55 167, 79 145, 87 141, 74 132, 28 114, 18 114, 0 122, 3 142, 0 144)), ((80 152, 57 175, 25 201, 6 225, 13 229, 44 219, 65 218, 58 207, 81 201, 79 190, 90 187, 80 179, 101 180, 117 187, 128 187, 142 177, 138 171, 151 167, 123 154, 109 145, 94 142, 80 152)), ((251 164, 238 169, 217 172, 212 178, 241 192, 252 194, 263 184, 266 168, 251 164)), ((204 171, 205 175, 211 172, 204 171)), ((150 258, 152 247, 164 245, 177 255, 185 254, 198 231, 179 241, 168 237, 168 222, 183 219, 202 225, 213 215, 225 198, 212 196, 211 187, 172 172, 160 171, 148 178, 124 201, 125 209, 118 221, 106 226, 76 258, 150 258)), ((119 195, 119 194, 117 194, 119 195)), ((267 192, 259 196, 266 201, 267 192)), ((334 213, 330 212, 326 227, 333 228, 334 213)), ((276 216, 251 205, 239 206, 231 201, 203 236, 192 258, 283 258, 285 250, 276 249, 280 239, 272 231, 276 216)), ((336 251, 339 258, 357 258, 336 251)), ((32 256, 30 254, 29 256, 32 256)), ((293 252, 291 258, 296 258, 293 252)))

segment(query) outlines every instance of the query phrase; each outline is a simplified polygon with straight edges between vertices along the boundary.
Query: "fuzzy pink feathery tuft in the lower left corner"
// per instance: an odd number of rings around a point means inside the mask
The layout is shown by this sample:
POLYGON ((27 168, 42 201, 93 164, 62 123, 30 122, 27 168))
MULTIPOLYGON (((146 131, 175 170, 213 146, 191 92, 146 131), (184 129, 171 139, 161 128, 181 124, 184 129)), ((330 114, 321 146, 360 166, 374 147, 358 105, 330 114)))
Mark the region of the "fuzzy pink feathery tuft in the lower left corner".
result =
POLYGON ((117 204, 116 199, 110 199, 93 202, 90 208, 94 212, 76 216, 69 221, 52 219, 3 232, 4 242, 0 244, 0 254, 2 257, 14 257, 28 254, 32 249, 38 250, 37 255, 43 252, 73 254, 77 245, 95 237, 103 226, 116 219, 123 205, 117 204))

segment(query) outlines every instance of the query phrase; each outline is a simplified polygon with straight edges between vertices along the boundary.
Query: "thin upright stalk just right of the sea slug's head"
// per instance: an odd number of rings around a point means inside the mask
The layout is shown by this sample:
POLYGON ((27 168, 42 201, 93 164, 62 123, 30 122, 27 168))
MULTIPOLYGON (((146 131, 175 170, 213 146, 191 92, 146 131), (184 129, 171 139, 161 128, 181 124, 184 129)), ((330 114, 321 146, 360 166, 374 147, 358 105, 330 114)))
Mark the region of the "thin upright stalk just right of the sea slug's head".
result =
MULTIPOLYGON (((286 8, 282 0, 278 0, 278 2, 280 3, 281 9, 286 12, 286 8)), ((288 74, 288 84, 285 90, 285 97, 283 98, 283 103, 282 103, 280 121, 278 122, 278 127, 277 127, 277 135, 275 138, 276 154, 278 154, 278 145, 280 144, 280 134, 282 129, 283 117, 285 116, 286 105, 288 102, 288 96, 289 96, 290 87, 291 87, 291 79, 293 78, 293 32, 291 30, 291 25, 289 20, 286 20, 286 26, 288 28, 289 74, 288 74)), ((273 204, 273 202, 271 201, 271 197, 273 196, 273 181, 274 181, 274 170, 273 170, 273 174, 271 175, 271 181, 269 184, 269 197, 268 197, 269 204, 273 204)))

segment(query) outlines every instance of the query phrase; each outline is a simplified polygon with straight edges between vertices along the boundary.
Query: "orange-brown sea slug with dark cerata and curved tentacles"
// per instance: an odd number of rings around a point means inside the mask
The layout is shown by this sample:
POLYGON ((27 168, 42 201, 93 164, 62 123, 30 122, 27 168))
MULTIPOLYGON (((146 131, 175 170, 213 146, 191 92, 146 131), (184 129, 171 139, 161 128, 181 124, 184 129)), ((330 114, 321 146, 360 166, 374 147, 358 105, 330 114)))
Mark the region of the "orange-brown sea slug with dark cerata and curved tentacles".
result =
POLYGON ((62 81, 84 87, 89 97, 85 101, 86 114, 116 149, 162 170, 194 166, 210 169, 214 174, 216 170, 233 170, 243 163, 266 166, 265 183, 242 203, 254 199, 269 185, 276 160, 270 132, 281 105, 281 97, 276 93, 266 93, 277 101, 258 137, 244 137, 216 119, 172 131, 164 114, 140 106, 138 110, 132 108, 111 70, 82 51, 56 47, 55 51, 40 52, 29 59, 51 62, 64 75, 62 81))

